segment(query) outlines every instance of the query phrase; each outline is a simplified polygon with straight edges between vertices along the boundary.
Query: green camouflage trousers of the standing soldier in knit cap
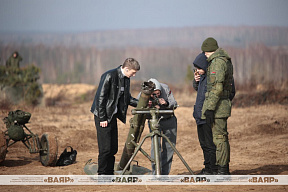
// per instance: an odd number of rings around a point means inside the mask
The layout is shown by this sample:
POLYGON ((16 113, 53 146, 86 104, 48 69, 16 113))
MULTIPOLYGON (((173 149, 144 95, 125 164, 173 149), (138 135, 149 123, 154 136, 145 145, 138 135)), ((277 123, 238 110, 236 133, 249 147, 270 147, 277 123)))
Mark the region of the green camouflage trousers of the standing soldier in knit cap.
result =
POLYGON ((216 146, 216 164, 228 165, 230 162, 230 144, 227 132, 227 119, 215 119, 212 127, 213 142, 216 146))

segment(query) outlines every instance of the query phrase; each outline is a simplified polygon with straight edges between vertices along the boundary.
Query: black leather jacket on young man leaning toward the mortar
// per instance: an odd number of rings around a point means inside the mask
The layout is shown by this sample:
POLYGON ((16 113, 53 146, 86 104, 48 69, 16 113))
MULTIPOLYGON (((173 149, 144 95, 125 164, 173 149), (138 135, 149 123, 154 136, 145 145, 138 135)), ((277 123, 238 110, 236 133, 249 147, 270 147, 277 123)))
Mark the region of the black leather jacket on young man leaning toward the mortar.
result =
POLYGON ((117 107, 117 118, 126 123, 126 113, 128 105, 137 106, 137 99, 131 97, 130 79, 124 77, 121 72, 121 65, 115 69, 105 72, 100 79, 100 83, 91 106, 91 112, 100 121, 110 122, 117 107), (123 83, 124 81, 124 83, 123 83), (124 90, 121 92, 121 87, 124 90))

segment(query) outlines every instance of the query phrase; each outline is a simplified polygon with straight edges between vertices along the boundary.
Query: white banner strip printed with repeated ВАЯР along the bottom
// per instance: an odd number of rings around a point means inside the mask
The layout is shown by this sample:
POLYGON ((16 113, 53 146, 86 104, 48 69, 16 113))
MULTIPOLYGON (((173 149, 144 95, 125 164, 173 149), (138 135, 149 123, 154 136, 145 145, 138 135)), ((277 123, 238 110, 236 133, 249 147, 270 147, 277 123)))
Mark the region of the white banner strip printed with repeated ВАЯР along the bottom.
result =
POLYGON ((288 185, 288 175, 0 175, 0 185, 288 185))

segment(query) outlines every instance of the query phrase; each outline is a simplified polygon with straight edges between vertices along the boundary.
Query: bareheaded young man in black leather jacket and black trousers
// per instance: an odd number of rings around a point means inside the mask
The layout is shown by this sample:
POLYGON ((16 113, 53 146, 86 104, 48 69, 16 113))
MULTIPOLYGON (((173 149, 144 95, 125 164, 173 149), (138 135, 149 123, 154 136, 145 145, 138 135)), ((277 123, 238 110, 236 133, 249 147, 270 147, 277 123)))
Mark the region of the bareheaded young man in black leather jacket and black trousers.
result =
POLYGON ((130 77, 140 70, 138 61, 127 58, 124 64, 105 72, 94 97, 94 114, 98 140, 98 175, 113 175, 118 151, 117 118, 126 123, 128 105, 137 106, 130 94, 130 77))

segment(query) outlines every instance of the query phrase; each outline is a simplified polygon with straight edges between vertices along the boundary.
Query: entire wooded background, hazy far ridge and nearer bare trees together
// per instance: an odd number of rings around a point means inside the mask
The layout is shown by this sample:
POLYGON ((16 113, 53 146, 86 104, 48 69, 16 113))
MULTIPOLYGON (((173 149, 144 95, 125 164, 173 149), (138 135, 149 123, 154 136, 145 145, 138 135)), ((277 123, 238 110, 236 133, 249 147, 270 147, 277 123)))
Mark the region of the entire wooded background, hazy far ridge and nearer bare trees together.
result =
MULTIPOLYGON (((140 62, 135 80, 183 84, 202 41, 213 36, 232 58, 239 86, 287 84, 288 28, 197 27, 81 34, 0 34, 0 65, 17 50, 22 66, 41 69, 42 83, 98 84, 127 57, 140 62)), ((189 78, 188 78, 189 79, 189 78)), ((187 82, 187 81, 186 81, 187 82)), ((188 82, 189 83, 189 82, 188 82)))

